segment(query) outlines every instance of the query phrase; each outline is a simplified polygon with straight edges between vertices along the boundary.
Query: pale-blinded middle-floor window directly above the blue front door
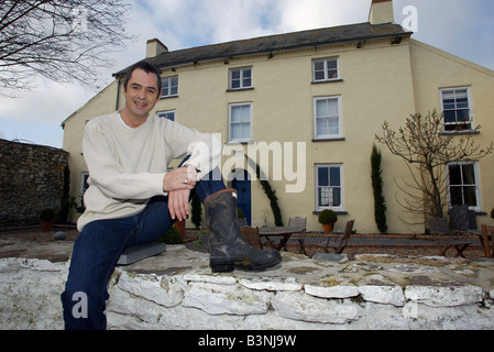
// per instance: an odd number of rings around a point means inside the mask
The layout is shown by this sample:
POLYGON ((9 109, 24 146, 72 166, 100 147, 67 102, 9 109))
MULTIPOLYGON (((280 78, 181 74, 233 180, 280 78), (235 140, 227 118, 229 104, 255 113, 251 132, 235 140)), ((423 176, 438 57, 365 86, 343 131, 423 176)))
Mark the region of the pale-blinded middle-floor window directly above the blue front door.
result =
POLYGON ((230 141, 252 141, 252 102, 231 103, 229 107, 230 141))

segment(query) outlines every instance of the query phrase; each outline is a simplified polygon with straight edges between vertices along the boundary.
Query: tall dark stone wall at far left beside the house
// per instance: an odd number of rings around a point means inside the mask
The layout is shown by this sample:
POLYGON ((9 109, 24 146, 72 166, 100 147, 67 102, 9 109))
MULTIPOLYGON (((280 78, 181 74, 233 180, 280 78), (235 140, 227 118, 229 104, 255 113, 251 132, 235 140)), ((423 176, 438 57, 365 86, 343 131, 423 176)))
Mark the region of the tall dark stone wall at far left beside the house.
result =
POLYGON ((45 208, 61 208, 68 153, 0 140, 0 226, 39 222, 45 208))

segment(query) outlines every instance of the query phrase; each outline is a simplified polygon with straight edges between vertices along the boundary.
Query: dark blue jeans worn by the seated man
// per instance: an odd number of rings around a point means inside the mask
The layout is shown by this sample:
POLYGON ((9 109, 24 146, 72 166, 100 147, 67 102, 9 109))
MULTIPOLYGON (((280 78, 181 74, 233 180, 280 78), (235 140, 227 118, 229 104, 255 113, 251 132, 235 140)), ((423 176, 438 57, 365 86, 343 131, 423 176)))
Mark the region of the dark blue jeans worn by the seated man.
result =
MULTIPOLYGON (((218 176, 219 169, 212 173, 196 185, 201 201, 226 188, 218 176)), ((74 245, 65 292, 61 295, 65 329, 106 329, 108 282, 121 253, 128 246, 156 241, 174 222, 168 212, 168 198, 158 196, 135 216, 88 223, 74 245)))

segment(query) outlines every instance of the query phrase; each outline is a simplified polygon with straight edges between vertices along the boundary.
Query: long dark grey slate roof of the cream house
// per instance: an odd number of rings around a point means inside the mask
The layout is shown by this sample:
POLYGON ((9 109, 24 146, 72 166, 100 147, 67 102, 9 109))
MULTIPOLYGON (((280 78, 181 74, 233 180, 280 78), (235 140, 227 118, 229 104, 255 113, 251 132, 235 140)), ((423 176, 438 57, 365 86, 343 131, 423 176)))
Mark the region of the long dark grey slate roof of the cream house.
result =
MULTIPOLYGON (((165 68, 212 59, 228 59, 235 56, 270 54, 303 47, 359 43, 381 38, 389 38, 399 43, 402 37, 410 35, 411 32, 405 32, 400 25, 395 23, 370 24, 364 22, 185 48, 163 53, 145 61, 160 68, 165 68)), ((114 76, 120 76, 125 72, 127 68, 114 74, 114 76)))

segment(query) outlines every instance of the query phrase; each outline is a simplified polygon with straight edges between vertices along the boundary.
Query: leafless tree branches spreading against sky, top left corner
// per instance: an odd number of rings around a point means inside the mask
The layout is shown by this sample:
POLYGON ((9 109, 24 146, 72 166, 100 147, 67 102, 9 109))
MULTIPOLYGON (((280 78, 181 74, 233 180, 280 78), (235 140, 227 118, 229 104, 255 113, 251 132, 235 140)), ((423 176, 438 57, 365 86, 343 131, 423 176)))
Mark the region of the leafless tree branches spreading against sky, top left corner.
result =
POLYGON ((108 52, 133 38, 129 9, 124 0, 1 0, 0 89, 31 88, 33 76, 95 88, 108 52))

